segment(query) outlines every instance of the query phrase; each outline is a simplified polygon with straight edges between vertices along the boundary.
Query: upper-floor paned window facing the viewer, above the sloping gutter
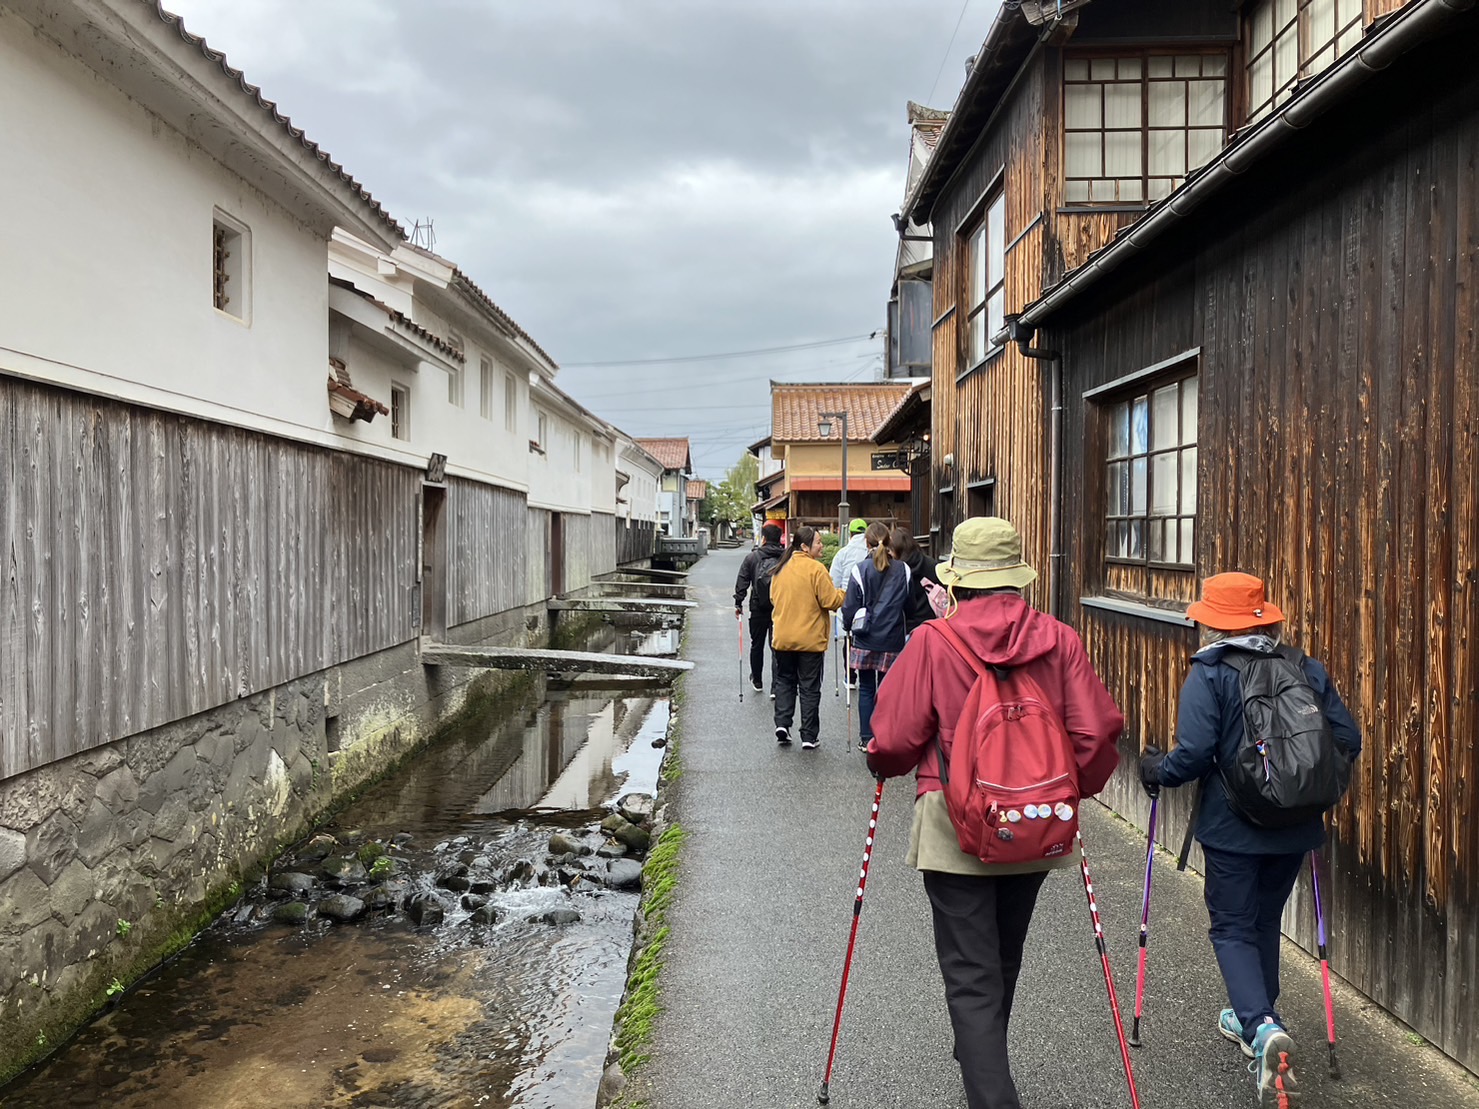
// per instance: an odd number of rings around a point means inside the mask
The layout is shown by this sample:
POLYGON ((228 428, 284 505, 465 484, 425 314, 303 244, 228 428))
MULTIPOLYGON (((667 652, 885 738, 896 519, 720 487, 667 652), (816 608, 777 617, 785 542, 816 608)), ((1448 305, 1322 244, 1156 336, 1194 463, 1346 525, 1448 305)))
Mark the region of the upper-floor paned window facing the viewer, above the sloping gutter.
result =
POLYGON ((1228 52, 1063 62, 1063 200, 1168 197, 1228 136, 1228 52))

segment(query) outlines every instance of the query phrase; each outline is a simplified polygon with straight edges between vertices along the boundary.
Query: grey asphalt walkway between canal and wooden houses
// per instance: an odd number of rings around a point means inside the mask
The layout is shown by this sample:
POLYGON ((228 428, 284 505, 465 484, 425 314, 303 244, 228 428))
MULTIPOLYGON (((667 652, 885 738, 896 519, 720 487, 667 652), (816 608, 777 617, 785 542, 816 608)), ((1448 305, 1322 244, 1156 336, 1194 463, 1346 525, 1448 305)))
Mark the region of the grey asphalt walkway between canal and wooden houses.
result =
MULTIPOLYGON (((740 704, 732 586, 744 552, 695 566, 682 713, 682 778, 669 816, 689 832, 669 920, 661 1016, 633 1099, 651 1109, 805 1109, 816 1105, 874 782, 849 750, 831 662, 822 747, 781 750, 771 701, 740 704)), ((766 674, 769 679, 769 674, 766 674)), ((856 735, 856 720, 853 720, 856 735)), ((904 864, 913 781, 884 788, 842 1041, 834 1109, 964 1109, 951 1060, 927 902, 904 864)), ((1126 822, 1084 809, 1100 912, 1121 1004, 1134 1000, 1145 847, 1126 822)), ((1161 861, 1155 875, 1145 1047, 1134 1051, 1145 1109, 1253 1106, 1238 1048, 1214 1028, 1226 1004, 1207 942, 1201 881, 1161 861)), ((1285 1011, 1302 1048, 1304 1109, 1475 1109, 1479 1084, 1350 989, 1338 989, 1344 1079, 1325 1075, 1319 966, 1285 948, 1285 1011)), ((1103 974, 1077 871, 1043 889, 1012 1026, 1028 1109, 1128 1106, 1103 974)))

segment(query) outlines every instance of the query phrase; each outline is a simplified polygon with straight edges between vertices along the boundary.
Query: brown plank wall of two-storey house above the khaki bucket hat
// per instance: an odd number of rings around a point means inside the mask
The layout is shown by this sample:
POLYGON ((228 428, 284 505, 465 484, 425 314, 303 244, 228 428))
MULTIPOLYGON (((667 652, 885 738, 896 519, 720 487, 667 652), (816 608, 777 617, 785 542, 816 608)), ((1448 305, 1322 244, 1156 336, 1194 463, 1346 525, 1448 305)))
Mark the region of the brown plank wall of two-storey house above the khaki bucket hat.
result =
POLYGON ((1001 115, 932 213, 935 226, 935 350, 930 457, 941 497, 935 523, 941 550, 969 515, 966 486, 994 478, 997 515, 1022 532, 1026 557, 1047 566, 1046 395, 1037 362, 1007 346, 961 379, 966 367, 966 256, 961 225, 1000 180, 1006 197, 1006 311, 1019 312, 1043 290, 1044 64, 1037 59, 1009 95, 1001 115), (951 312, 954 309, 954 312, 951 312), (950 315, 947 315, 950 313, 950 315), (954 467, 945 469, 945 455, 954 467))

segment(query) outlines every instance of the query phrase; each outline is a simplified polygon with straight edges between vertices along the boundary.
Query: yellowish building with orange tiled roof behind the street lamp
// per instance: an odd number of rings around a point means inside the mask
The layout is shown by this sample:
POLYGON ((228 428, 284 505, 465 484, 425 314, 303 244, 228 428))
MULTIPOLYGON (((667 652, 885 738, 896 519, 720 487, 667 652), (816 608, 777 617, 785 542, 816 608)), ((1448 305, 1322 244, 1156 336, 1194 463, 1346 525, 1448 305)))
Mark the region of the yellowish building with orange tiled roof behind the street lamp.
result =
POLYGON ((907 381, 771 383, 771 451, 784 476, 768 481, 757 515, 785 525, 839 526, 843 492, 842 421, 847 414, 847 518, 910 522, 910 475, 898 466, 899 445, 877 432, 910 396, 907 381), (822 426, 830 424, 828 433, 822 426))

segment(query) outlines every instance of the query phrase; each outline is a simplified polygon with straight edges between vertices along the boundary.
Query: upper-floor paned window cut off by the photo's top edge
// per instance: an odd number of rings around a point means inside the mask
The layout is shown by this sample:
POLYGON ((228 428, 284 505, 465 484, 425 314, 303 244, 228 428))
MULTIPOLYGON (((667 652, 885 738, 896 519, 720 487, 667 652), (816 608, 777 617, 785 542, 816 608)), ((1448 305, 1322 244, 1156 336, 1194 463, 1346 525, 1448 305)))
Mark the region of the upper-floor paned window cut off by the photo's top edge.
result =
POLYGON ((1248 120, 1284 104, 1294 86, 1361 41, 1362 0, 1259 0, 1244 21, 1248 120))

